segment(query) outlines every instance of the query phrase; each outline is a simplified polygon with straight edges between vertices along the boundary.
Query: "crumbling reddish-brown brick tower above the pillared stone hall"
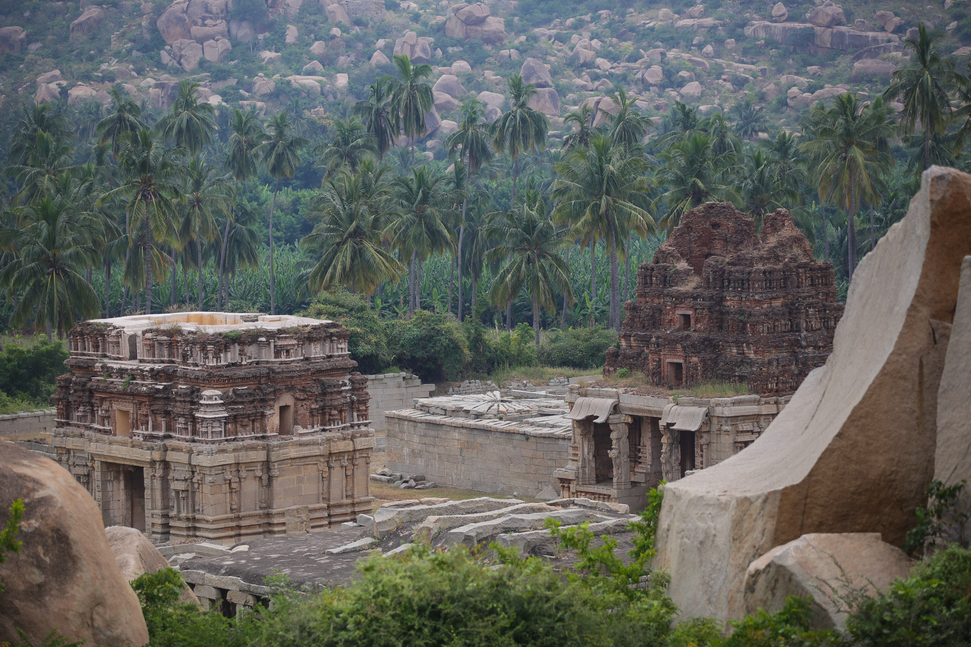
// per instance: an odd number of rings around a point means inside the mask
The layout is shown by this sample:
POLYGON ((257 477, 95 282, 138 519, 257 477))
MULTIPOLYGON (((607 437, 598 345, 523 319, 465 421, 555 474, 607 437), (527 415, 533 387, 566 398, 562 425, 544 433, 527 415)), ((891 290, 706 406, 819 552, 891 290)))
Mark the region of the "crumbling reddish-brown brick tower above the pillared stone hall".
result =
POLYGON ((718 380, 791 394, 825 363, 843 315, 832 264, 813 258, 787 210, 766 214, 759 236, 730 203, 687 211, 638 269, 636 294, 605 371, 673 388, 718 380))

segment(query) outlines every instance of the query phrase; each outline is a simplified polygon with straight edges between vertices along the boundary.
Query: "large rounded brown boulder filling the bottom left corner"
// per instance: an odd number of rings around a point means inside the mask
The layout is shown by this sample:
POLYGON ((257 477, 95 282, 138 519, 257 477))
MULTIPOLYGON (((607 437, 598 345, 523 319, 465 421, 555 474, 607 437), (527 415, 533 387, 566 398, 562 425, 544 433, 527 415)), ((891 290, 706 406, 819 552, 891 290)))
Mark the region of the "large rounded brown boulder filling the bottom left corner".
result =
POLYGON ((92 647, 142 647, 149 630, 121 575, 101 512, 66 469, 12 442, 0 442, 0 515, 23 500, 18 555, 0 565, 6 591, 0 643, 35 645, 53 629, 92 647))

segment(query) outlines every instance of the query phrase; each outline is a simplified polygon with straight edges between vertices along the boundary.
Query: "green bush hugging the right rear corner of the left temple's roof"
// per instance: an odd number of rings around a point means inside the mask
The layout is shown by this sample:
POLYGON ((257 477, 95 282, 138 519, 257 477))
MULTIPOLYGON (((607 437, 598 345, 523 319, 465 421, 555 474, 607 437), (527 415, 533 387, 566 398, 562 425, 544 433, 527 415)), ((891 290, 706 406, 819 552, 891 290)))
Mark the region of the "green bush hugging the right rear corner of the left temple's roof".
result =
POLYGON ((358 295, 344 288, 318 292, 303 315, 330 319, 351 331, 348 349, 360 372, 370 375, 390 366, 391 354, 387 349, 385 325, 371 304, 358 295))

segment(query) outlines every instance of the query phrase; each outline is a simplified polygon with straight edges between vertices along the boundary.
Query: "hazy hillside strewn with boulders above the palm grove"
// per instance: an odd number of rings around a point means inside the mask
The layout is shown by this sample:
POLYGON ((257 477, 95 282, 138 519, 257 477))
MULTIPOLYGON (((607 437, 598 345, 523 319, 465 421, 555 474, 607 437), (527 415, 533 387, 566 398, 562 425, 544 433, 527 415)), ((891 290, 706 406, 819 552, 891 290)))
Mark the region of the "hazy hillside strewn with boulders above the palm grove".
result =
MULTIPOLYGON (((919 21, 942 50, 971 53, 966 0, 763 4, 714 0, 115 0, 6 2, 0 16, 0 92, 6 106, 66 99, 107 105, 115 83, 163 110, 185 77, 218 106, 274 112, 293 97, 323 118, 367 96, 393 54, 433 66, 435 111, 425 155, 477 97, 494 119, 514 74, 540 91, 533 107, 562 116, 586 103, 613 112, 623 87, 655 121, 674 100, 701 113, 752 96, 778 125, 846 91, 879 93, 919 21)), ((598 119, 604 115, 598 113, 598 119)), ((441 157, 443 151, 439 151, 441 157)))

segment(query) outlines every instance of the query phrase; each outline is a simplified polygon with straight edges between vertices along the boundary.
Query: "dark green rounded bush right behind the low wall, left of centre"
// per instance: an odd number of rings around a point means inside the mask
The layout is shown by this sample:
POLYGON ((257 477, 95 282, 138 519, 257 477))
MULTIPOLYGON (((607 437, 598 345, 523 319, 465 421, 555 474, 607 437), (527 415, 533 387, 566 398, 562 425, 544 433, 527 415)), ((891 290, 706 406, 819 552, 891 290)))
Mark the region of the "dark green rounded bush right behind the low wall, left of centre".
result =
POLYGON ((461 377, 469 361, 462 328, 451 314, 419 310, 385 322, 392 361, 423 381, 461 377))

